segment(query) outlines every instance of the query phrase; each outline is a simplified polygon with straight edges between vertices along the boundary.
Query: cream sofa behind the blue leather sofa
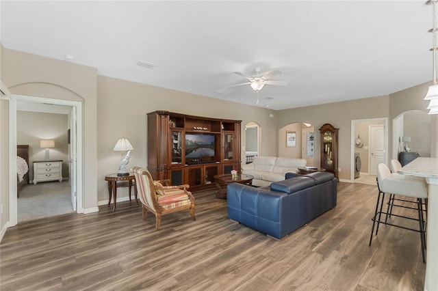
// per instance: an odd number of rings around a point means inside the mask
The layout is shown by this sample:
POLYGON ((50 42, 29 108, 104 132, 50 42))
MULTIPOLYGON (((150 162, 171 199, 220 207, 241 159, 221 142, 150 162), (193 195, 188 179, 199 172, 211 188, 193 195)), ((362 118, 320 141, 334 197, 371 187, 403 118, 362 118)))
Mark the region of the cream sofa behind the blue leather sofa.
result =
POLYGON ((298 167, 305 167, 303 158, 255 156, 253 163, 242 165, 242 174, 254 176, 253 186, 270 186, 272 182, 285 180, 286 173, 298 174, 298 167))

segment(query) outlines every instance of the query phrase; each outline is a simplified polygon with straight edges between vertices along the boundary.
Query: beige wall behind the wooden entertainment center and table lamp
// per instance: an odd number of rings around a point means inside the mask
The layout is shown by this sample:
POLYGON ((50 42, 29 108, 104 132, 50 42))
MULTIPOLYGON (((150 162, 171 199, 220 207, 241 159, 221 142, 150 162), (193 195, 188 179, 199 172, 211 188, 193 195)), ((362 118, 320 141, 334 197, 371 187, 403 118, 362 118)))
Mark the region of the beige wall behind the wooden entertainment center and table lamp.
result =
MULTIPOLYGON (((129 166, 146 167, 146 113, 165 110, 171 112, 242 120, 242 133, 245 124, 257 120, 262 128, 260 154, 276 155, 276 119, 270 117, 272 110, 227 102, 216 98, 207 98, 195 94, 177 92, 170 89, 143 85, 98 76, 98 184, 99 201, 108 199, 105 174, 117 171, 122 156, 112 148, 120 137, 126 137, 134 148, 129 166)), ((242 134, 242 146, 245 135, 242 134)), ((242 155, 244 157, 244 155, 242 155)), ((127 189, 118 190, 121 196, 127 195, 127 189)))

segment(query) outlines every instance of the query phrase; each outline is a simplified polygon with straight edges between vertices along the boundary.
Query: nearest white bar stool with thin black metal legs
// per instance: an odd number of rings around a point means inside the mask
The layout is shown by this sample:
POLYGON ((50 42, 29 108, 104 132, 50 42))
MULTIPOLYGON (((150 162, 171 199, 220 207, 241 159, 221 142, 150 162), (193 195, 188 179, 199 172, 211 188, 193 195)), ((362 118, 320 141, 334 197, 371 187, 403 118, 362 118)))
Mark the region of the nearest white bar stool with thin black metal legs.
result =
POLYGON ((378 197, 376 203, 376 210, 374 212, 374 217, 372 218, 373 223, 372 223, 371 236, 370 236, 370 246, 372 243, 372 236, 376 223, 377 223, 376 235, 378 233, 378 226, 380 225, 380 223, 383 223, 385 225, 400 227, 403 228, 404 230, 412 230, 414 232, 419 232, 420 240, 422 243, 423 262, 426 263, 426 256, 424 254, 424 251, 426 249, 426 221, 424 221, 423 202, 422 202, 423 199, 427 199, 428 197, 426 186, 420 180, 394 178, 394 176, 391 176, 391 171, 389 171, 387 165, 381 163, 377 167, 377 187, 378 187, 378 197), (413 217, 407 217, 399 214, 391 214, 389 211, 383 212, 383 200, 385 199, 385 193, 416 198, 417 207, 412 209, 417 210, 418 218, 416 219, 413 217), (387 221, 387 217, 385 218, 385 221, 383 221, 381 217, 382 214, 385 214, 386 216, 392 215, 394 217, 400 217, 404 219, 411 219, 414 221, 418 221, 419 228, 414 229, 410 227, 404 227, 402 225, 398 225, 395 223, 389 223, 387 221))

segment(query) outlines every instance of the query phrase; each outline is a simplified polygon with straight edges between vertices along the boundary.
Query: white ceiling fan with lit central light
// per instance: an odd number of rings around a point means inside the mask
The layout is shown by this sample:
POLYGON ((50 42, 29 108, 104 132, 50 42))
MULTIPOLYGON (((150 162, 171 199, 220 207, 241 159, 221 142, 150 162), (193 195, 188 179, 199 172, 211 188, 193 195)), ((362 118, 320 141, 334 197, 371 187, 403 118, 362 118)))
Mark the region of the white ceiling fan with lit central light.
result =
POLYGON ((259 92, 264 85, 279 85, 279 86, 286 86, 289 84, 289 81, 272 81, 270 80, 272 77, 278 76, 279 74, 283 74, 282 70, 274 69, 270 72, 266 72, 265 74, 260 73, 261 68, 255 68, 253 77, 247 76, 246 74, 243 74, 241 72, 234 72, 235 74, 238 74, 241 77, 244 77, 248 80, 248 82, 240 83, 236 85, 230 85, 227 87, 224 87, 222 89, 219 89, 216 91, 220 94, 230 94, 233 92, 236 92, 237 90, 234 89, 234 87, 242 86, 242 85, 250 85, 250 87, 255 91, 259 92))

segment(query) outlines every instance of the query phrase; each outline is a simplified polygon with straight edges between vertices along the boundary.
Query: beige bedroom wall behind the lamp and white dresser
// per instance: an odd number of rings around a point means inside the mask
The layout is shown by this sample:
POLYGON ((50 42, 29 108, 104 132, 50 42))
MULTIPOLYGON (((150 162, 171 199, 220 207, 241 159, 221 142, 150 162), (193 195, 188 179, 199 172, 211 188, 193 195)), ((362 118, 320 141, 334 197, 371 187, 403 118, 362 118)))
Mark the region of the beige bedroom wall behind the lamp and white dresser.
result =
POLYGON ((34 180, 34 161, 44 161, 45 149, 40 139, 53 139, 55 148, 50 149, 51 161, 62 161, 62 177, 68 178, 68 119, 66 114, 16 112, 16 143, 29 145, 29 180, 34 180))

